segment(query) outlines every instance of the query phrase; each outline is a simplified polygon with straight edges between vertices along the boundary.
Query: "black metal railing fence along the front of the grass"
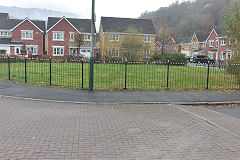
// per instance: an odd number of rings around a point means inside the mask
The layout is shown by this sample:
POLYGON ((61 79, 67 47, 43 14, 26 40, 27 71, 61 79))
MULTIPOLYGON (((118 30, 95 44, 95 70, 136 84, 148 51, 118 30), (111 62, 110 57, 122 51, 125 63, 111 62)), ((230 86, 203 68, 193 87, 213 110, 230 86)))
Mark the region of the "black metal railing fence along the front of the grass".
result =
MULTIPOLYGON (((89 63, 69 59, 0 57, 0 80, 88 89, 89 63)), ((239 65, 161 62, 94 63, 95 90, 239 89, 239 65), (227 68, 228 67, 228 68, 227 68)))

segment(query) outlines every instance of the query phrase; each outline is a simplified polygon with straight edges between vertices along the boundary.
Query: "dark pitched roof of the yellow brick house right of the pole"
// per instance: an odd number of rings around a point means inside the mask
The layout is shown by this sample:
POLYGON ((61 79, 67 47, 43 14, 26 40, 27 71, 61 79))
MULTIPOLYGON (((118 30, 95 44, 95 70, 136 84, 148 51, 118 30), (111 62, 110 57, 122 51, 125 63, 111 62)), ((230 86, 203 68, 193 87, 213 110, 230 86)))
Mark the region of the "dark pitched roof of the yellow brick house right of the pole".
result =
POLYGON ((129 27, 134 27, 142 34, 156 34, 152 20, 149 19, 132 19, 101 17, 103 32, 125 33, 129 27))

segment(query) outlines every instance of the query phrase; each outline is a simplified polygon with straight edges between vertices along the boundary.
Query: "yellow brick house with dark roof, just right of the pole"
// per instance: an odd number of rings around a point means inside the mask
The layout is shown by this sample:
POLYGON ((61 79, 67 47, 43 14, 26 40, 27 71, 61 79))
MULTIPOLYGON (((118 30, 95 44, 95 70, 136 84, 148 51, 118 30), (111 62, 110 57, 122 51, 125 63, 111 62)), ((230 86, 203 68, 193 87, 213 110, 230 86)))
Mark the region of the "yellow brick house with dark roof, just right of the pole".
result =
MULTIPOLYGON (((124 39, 129 35, 137 37, 140 41, 139 46, 149 45, 148 49, 143 50, 144 59, 149 59, 154 53, 156 39, 152 20, 101 17, 99 31, 101 58, 105 59, 109 56, 110 58, 122 59, 123 52, 120 51, 120 48, 122 44, 126 43, 124 39), (129 33, 127 30, 130 28, 134 28, 137 32, 135 34, 129 33)), ((138 55, 138 53, 131 54, 138 55)))

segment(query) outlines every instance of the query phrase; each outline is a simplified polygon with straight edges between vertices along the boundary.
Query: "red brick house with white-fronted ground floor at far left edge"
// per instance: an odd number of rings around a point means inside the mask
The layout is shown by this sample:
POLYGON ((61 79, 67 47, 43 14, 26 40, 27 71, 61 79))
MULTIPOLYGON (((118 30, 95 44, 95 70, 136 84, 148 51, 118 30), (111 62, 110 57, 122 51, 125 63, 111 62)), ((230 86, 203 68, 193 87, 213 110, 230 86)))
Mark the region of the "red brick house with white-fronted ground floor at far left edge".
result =
POLYGON ((26 50, 27 54, 43 54, 44 21, 28 18, 24 20, 9 19, 8 14, 0 14, 0 17, 3 19, 0 21, 0 50, 8 55, 19 55, 23 50, 26 50))

